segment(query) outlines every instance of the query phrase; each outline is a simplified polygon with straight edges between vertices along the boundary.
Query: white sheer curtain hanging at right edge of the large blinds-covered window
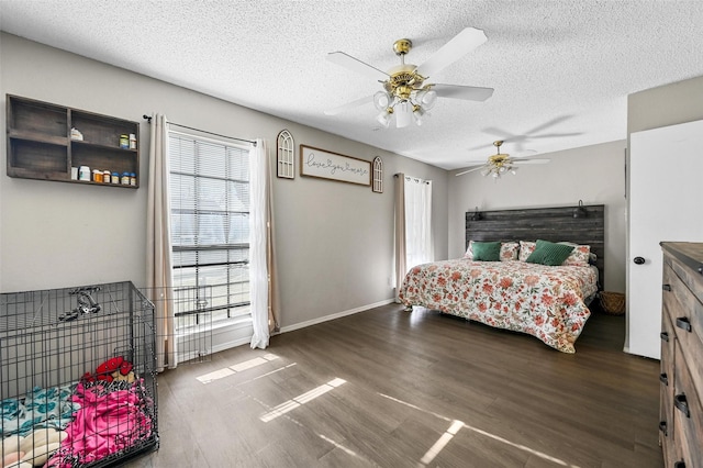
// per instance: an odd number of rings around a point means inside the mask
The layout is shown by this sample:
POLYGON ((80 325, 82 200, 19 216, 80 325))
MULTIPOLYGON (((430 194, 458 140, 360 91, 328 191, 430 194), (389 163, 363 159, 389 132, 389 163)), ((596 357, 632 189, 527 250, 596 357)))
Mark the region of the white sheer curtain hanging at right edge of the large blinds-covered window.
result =
POLYGON ((256 140, 249 151, 249 283, 252 296, 252 348, 265 349, 270 336, 267 268, 268 151, 256 140))

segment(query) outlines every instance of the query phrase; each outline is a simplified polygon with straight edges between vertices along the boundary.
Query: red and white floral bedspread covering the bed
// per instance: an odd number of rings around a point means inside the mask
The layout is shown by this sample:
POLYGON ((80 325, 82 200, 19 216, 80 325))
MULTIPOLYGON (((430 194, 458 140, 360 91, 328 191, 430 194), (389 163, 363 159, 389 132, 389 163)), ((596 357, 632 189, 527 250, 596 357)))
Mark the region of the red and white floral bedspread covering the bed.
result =
POLYGON ((499 328, 533 335, 563 353, 591 315, 584 299, 598 291, 593 267, 455 259, 413 267, 399 297, 499 328))

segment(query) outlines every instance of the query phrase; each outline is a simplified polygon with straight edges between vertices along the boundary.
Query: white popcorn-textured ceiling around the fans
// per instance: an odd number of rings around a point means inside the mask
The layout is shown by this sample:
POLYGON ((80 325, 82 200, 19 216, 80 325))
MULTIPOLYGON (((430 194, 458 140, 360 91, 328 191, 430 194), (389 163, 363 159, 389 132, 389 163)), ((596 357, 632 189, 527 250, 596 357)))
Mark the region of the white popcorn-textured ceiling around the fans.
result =
POLYGON ((0 29, 445 169, 626 138, 627 94, 703 76, 701 1, 0 0, 0 29), (380 130, 380 89, 326 60, 380 69, 395 40, 422 64, 467 26, 488 41, 432 82, 491 87, 439 99, 422 126, 380 130))

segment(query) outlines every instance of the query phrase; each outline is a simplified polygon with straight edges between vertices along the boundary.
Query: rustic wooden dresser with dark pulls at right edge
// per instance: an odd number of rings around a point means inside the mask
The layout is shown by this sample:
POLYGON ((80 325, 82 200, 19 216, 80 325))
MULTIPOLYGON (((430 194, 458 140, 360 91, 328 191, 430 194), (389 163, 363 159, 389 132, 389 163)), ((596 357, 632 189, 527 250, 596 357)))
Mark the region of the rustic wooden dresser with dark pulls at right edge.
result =
POLYGON ((659 441, 667 468, 703 468, 703 244, 661 247, 659 441))

